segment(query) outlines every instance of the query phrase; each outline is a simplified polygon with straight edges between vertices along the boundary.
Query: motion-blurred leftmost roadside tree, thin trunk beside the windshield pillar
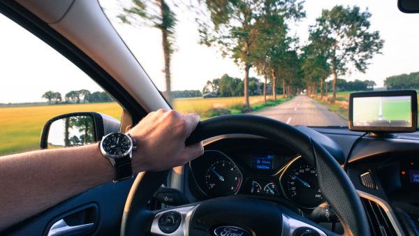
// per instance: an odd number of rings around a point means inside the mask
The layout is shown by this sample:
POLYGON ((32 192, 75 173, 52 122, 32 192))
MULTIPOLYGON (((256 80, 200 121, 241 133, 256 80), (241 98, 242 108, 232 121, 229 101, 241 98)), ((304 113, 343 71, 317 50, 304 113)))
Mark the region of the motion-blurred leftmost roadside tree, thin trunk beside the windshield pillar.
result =
POLYGON ((175 40, 176 16, 166 0, 133 0, 131 5, 124 8, 124 13, 118 15, 125 24, 148 25, 159 29, 162 36, 164 73, 166 78, 166 99, 172 102, 170 61, 175 40))

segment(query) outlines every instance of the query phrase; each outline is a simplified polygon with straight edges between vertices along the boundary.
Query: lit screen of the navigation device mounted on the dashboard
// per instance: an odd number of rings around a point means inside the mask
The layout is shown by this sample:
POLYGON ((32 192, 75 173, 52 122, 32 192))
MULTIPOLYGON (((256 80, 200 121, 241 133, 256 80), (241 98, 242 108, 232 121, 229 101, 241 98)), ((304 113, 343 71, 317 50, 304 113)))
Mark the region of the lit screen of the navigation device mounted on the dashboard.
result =
POLYGON ((353 98, 353 126, 411 127, 411 96, 353 98))

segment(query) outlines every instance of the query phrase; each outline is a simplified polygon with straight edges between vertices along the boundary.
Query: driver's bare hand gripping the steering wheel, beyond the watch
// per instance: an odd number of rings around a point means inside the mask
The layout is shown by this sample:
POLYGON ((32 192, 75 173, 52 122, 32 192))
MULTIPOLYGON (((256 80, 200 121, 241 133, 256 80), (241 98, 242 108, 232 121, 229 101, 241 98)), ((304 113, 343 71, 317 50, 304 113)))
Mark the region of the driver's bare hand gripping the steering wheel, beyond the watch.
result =
POLYGON ((198 125, 196 114, 182 115, 175 110, 150 112, 129 134, 137 140, 133 152, 133 172, 168 170, 184 165, 204 153, 203 143, 185 146, 186 138, 198 125))

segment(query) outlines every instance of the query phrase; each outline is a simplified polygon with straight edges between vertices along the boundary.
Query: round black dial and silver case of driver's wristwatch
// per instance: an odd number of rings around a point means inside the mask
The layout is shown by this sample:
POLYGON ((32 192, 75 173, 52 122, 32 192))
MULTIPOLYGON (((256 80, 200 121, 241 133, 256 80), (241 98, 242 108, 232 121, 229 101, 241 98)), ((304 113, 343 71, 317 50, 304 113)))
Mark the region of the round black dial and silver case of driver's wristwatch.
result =
POLYGON ((110 157, 125 156, 132 147, 131 139, 124 133, 111 133, 103 140, 102 147, 110 157))

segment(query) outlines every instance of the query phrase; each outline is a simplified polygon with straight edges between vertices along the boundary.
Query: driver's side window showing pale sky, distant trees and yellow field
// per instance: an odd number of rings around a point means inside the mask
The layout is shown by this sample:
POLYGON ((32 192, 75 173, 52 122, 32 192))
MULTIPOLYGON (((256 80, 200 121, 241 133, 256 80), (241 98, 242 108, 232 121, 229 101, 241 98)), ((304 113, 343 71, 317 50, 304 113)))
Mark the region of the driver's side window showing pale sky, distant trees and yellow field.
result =
POLYGON ((122 108, 89 76, 0 14, 0 156, 40 149, 45 121, 68 112, 120 120, 122 108))

